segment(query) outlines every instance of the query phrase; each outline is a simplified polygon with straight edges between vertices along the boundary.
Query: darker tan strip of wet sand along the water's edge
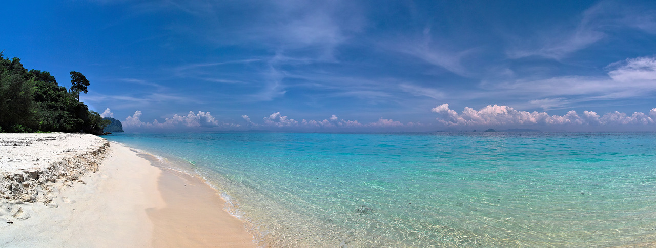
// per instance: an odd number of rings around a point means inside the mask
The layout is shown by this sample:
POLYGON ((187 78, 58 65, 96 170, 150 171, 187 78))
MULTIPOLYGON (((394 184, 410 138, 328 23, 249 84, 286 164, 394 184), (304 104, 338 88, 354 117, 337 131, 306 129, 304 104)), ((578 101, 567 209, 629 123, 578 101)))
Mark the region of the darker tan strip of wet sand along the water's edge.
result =
POLYGON ((138 154, 161 174, 158 189, 165 207, 147 209, 154 224, 154 247, 255 247, 244 222, 223 209, 226 201, 201 178, 155 165, 151 154, 138 154))

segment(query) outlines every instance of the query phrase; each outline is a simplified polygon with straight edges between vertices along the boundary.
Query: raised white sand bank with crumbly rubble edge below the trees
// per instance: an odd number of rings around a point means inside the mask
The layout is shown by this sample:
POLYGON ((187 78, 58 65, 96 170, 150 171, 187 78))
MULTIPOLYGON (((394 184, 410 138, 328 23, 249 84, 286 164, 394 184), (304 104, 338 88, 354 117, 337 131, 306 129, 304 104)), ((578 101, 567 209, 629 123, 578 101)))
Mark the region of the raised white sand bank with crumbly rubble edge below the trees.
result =
POLYGON ((79 177, 98 171, 108 146, 92 134, 0 134, 0 217, 29 218, 19 203, 56 207, 58 187, 84 183, 79 177))

